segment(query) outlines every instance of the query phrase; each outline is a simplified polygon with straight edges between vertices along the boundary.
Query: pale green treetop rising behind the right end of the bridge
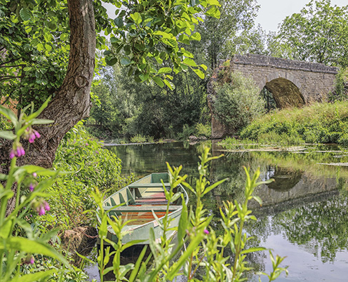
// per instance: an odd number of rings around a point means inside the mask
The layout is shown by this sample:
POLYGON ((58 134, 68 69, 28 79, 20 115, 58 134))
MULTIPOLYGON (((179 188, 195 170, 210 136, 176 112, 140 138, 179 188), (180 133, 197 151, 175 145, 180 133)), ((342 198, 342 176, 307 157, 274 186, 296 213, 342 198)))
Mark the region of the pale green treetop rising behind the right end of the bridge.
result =
POLYGON ((348 6, 330 0, 310 1, 300 13, 283 20, 278 39, 297 60, 348 65, 348 6))

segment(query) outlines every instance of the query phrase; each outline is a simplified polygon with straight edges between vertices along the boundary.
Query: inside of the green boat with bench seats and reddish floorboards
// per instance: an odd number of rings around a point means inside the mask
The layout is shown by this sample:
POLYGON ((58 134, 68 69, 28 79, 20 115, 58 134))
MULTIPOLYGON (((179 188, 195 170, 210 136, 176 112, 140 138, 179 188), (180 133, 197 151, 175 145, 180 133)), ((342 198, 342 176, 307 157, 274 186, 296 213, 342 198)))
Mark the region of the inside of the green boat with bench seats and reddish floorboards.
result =
MULTIPOLYGON (((111 218, 121 216, 122 222, 131 220, 127 225, 146 224, 155 220, 152 211, 159 218, 166 215, 168 201, 164 189, 170 189, 168 173, 152 173, 109 196, 104 208, 111 218)), ((176 187, 174 192, 180 189, 176 187)), ((181 203, 181 197, 170 203, 168 213, 180 209, 181 203)))

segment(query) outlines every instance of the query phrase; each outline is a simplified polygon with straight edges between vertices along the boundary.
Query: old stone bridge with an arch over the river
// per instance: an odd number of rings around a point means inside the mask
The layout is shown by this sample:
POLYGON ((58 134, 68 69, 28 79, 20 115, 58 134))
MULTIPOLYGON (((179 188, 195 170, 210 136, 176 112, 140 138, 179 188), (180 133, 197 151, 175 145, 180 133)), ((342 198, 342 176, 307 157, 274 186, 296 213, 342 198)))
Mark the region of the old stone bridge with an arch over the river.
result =
MULTIPOLYGON (((250 76, 260 91, 267 88, 272 93, 276 107, 285 108, 326 100, 328 93, 333 90, 337 67, 265 55, 234 55, 214 70, 208 83, 208 105, 212 113, 212 95, 215 95, 213 86, 228 81, 226 74, 231 72, 250 76)), ((221 138, 229 134, 233 133, 212 114, 212 137, 221 138)))

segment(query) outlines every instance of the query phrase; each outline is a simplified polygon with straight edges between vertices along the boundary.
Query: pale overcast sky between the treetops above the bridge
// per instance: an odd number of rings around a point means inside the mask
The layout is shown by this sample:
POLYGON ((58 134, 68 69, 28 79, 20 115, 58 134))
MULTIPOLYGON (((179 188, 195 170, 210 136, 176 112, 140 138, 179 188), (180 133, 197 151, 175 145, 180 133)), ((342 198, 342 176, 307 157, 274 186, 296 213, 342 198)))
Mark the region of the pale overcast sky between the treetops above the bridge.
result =
MULTIPOLYGON (((309 0, 257 0, 260 10, 255 20, 256 25, 260 24, 266 31, 276 32, 279 23, 286 16, 299 13, 309 3, 309 0)), ((331 6, 346 6, 347 0, 331 0, 331 6)))

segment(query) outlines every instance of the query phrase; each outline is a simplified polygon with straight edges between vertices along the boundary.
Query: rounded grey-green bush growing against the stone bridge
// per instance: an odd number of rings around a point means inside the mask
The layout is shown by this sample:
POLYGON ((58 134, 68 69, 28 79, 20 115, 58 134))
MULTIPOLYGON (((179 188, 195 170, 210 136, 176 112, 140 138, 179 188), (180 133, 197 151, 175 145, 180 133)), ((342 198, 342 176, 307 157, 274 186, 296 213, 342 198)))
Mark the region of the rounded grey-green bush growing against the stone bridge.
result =
POLYGON ((253 79, 238 72, 231 74, 232 83, 217 89, 214 112, 217 119, 234 131, 247 126, 264 112, 265 101, 253 79))

